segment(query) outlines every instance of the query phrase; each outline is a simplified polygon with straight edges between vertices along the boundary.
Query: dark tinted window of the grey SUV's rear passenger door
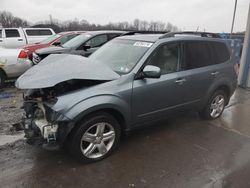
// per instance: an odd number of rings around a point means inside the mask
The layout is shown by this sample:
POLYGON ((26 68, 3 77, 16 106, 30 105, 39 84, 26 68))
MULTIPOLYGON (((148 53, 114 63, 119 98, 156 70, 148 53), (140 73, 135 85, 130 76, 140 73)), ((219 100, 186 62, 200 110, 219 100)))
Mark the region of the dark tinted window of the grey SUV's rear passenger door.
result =
POLYGON ((211 50, 206 41, 184 43, 184 64, 182 70, 195 69, 213 64, 211 50))

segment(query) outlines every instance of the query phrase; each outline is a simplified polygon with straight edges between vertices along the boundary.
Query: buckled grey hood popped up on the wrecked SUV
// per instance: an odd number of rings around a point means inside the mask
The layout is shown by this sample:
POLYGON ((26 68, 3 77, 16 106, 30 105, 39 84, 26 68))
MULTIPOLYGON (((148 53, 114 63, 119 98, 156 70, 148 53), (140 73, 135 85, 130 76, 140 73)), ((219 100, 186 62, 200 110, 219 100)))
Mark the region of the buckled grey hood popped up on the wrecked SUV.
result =
POLYGON ((119 77, 105 64, 77 55, 54 54, 20 76, 16 81, 16 87, 39 89, 53 87, 72 79, 108 81, 119 77))

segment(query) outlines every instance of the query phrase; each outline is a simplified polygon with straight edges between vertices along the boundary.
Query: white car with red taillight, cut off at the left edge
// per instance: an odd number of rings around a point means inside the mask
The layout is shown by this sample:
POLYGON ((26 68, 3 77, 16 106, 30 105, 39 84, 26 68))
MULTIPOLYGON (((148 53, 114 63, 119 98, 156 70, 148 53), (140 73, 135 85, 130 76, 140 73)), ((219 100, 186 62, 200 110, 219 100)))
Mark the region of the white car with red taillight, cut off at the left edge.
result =
POLYGON ((19 77, 32 65, 25 50, 0 47, 0 88, 4 87, 5 80, 19 77))

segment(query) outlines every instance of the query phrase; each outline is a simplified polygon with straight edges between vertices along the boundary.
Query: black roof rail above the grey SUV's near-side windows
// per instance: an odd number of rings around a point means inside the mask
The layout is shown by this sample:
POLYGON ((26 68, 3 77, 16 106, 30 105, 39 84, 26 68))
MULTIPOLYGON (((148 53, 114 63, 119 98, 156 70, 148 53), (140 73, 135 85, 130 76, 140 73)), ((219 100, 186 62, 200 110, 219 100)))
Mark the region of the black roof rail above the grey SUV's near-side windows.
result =
POLYGON ((200 37, 221 38, 220 35, 216 33, 200 32, 200 31, 182 31, 182 32, 166 33, 160 36, 159 39, 174 37, 175 35, 198 35, 200 37))

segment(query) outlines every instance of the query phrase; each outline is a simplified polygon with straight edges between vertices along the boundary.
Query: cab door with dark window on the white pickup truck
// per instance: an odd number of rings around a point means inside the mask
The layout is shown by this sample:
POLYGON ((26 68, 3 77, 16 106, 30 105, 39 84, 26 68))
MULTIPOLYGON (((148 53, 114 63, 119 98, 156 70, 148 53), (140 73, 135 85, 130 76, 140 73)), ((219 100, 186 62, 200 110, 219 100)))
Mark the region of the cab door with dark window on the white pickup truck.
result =
POLYGON ((26 44, 23 33, 19 29, 5 29, 4 46, 6 48, 18 48, 26 44))

